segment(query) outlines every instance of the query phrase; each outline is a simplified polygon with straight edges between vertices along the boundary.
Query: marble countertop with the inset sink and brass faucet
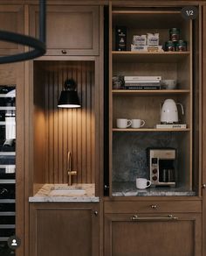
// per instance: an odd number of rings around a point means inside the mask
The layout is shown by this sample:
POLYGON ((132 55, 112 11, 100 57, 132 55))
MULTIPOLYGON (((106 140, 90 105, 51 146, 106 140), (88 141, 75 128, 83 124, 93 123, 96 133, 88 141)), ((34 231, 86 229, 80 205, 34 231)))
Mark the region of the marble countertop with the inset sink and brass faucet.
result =
MULTIPOLYGON (((55 193, 54 193, 55 194, 55 193)), ((45 184, 42 188, 38 190, 38 193, 34 196, 29 197, 29 202, 31 203, 98 203, 100 198, 95 196, 95 186, 94 184, 72 184, 68 187, 67 184, 45 184), (69 188, 69 189, 68 189, 69 188), (67 190, 79 190, 84 189, 85 194, 83 195, 64 195, 64 191, 67 190), (58 195, 52 195, 51 193, 57 191, 58 195), (62 192, 62 193, 61 193, 62 192)))

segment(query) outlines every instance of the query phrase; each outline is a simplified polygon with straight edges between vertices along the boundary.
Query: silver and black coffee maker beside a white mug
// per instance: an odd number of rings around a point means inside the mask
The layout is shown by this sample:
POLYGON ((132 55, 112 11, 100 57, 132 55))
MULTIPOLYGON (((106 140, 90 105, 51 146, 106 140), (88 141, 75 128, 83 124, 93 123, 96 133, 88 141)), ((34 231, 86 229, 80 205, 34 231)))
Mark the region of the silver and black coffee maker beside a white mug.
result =
POLYGON ((148 148, 151 186, 175 187, 175 148, 148 148))

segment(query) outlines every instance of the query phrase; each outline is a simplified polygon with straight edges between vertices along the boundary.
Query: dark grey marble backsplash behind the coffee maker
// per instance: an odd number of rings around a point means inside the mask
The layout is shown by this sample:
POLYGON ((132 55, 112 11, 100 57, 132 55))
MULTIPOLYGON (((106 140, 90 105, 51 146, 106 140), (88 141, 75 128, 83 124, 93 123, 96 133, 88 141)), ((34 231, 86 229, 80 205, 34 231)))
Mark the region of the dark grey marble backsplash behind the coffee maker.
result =
MULTIPOLYGON (((113 181, 135 181, 149 178, 148 147, 177 149, 178 136, 174 132, 113 132, 113 181)), ((177 157, 178 159, 178 157, 177 157)), ((175 167, 177 167, 177 161, 175 167)))

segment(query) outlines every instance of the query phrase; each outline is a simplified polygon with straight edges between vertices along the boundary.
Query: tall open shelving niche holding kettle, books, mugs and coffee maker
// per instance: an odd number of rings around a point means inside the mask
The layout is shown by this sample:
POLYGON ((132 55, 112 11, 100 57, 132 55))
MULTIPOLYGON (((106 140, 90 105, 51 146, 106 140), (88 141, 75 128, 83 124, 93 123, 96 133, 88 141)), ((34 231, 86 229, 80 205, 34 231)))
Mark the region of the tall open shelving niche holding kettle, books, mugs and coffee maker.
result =
MULTIPOLYGON (((181 10, 140 10, 113 7, 110 21, 110 196, 196 196, 193 180, 193 42, 192 20, 182 18, 181 10), (127 27, 127 51, 115 51, 115 26, 127 27), (188 43, 187 52, 131 52, 133 35, 160 33, 160 45, 169 38, 169 28, 181 29, 188 43), (174 90, 113 89, 113 75, 161 75, 161 79, 177 80, 174 90), (185 115, 179 112, 186 129, 155 129, 160 124, 160 106, 172 98, 182 103, 185 115), (117 118, 140 118, 141 129, 118 129, 117 118), (147 147, 176 149, 175 188, 135 188, 137 177, 149 178, 147 147)), ((195 83, 195 82, 194 82, 195 83)))

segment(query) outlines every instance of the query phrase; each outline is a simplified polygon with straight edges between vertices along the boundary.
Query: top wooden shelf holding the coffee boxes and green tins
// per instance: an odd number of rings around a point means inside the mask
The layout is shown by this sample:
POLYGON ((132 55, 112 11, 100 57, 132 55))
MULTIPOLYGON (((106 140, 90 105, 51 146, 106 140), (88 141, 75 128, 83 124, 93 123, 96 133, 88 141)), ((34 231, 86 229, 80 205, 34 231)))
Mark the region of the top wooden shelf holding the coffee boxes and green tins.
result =
POLYGON ((113 51, 114 62, 150 62, 150 63, 164 63, 164 62, 178 62, 189 56, 189 52, 162 52, 162 53, 148 53, 148 52, 118 52, 113 51))

